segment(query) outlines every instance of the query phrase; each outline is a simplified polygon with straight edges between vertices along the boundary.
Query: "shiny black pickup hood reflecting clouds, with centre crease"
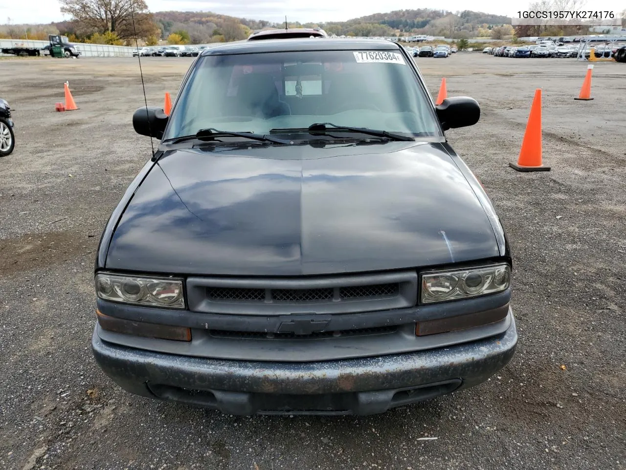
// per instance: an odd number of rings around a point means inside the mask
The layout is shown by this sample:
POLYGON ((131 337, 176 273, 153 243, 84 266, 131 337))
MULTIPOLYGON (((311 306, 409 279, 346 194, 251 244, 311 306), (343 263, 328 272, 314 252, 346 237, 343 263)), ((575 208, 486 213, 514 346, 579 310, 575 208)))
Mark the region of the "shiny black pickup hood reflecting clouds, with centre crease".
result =
POLYGON ((170 150, 118 221, 107 269, 299 275, 498 256, 441 144, 170 150))

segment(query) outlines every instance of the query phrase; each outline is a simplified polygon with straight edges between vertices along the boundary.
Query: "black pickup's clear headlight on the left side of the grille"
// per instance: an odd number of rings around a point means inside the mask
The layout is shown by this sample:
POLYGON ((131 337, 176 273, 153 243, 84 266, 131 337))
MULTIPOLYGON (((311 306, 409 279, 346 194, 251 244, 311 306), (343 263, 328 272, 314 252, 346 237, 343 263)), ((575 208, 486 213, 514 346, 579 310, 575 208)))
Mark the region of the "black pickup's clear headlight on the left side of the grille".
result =
POLYGON ((185 308, 182 279, 96 274, 96 294, 114 302, 185 308))

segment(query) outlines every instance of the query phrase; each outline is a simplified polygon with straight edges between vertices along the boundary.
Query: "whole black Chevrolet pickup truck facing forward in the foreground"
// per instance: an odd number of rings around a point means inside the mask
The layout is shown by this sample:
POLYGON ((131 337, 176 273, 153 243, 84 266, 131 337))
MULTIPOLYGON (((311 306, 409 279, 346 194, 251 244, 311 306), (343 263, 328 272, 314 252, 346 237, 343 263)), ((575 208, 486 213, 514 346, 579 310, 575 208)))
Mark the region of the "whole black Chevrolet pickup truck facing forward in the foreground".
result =
POLYGON ((95 260, 91 347, 137 395, 236 415, 376 414, 486 382, 515 353, 510 247, 404 48, 202 51, 95 260))

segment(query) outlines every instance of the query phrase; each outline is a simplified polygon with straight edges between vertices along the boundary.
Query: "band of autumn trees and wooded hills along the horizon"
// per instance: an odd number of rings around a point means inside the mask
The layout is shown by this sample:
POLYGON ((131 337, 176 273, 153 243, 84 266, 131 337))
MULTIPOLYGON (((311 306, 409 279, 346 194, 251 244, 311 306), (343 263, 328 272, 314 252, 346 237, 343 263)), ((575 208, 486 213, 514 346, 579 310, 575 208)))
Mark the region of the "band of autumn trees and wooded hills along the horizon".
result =
MULTIPOLYGON (((573 9, 582 0, 539 0, 537 9, 573 9), (564 6, 565 5, 565 6, 564 6), (567 8, 566 8, 567 7, 567 8)), ((161 11, 150 13, 145 0, 60 0, 61 12, 71 20, 49 25, 0 26, 0 38, 47 39, 65 34, 73 42, 135 45, 205 44, 245 39, 252 31, 283 28, 269 21, 233 18, 210 12, 161 11)), ((342 22, 290 23, 290 28, 319 26, 337 36, 403 36, 428 34, 453 39, 511 36, 586 34, 587 28, 570 26, 511 26, 510 18, 464 10, 452 13, 438 9, 397 10, 342 22)))

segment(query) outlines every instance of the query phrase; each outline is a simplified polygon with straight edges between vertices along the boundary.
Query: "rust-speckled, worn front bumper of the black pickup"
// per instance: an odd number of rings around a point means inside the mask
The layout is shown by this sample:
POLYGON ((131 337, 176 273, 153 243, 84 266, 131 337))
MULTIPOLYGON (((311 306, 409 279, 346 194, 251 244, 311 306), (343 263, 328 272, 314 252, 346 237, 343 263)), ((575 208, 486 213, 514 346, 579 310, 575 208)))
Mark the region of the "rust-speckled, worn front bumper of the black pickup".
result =
POLYGON ((226 414, 385 412, 485 382, 511 360, 511 315, 501 335, 421 352, 319 362, 217 360, 155 353, 92 337, 106 375, 128 392, 226 414))

